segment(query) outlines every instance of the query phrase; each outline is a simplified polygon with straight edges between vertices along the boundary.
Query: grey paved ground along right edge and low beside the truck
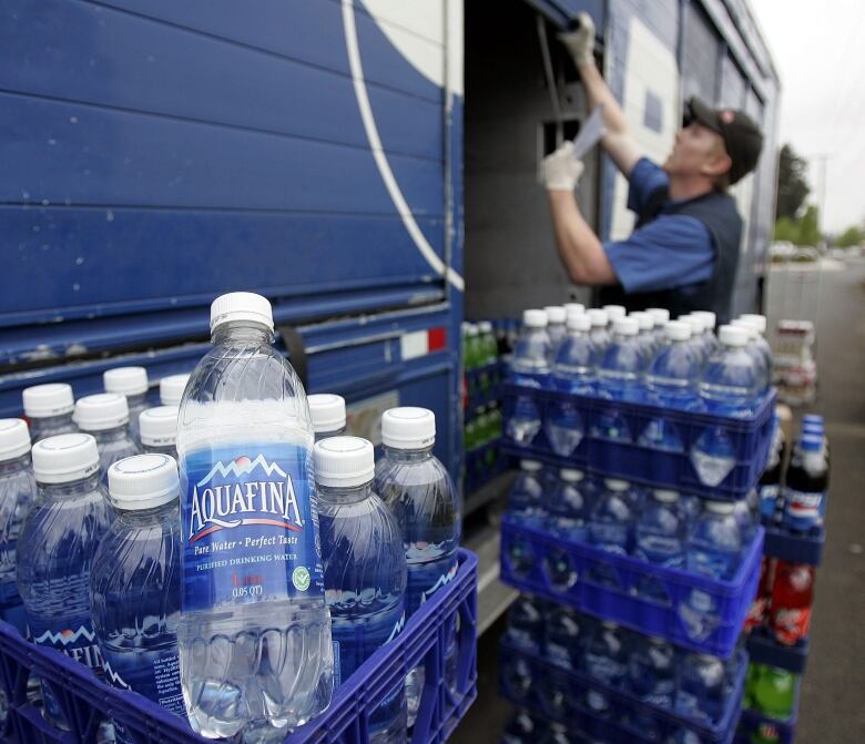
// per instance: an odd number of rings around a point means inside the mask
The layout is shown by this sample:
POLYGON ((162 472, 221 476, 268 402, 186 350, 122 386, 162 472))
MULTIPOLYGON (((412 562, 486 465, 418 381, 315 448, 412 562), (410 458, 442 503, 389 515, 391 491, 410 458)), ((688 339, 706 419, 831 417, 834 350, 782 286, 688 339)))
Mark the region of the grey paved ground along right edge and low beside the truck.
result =
MULTIPOLYGON (((813 283, 787 287, 785 298, 817 317, 820 395, 812 409, 825 416, 832 446, 827 541, 796 743, 853 744, 865 742, 865 261, 826 266, 818 289, 818 304, 813 283)), ((501 736, 511 710, 497 692, 502 630, 503 619, 480 639, 480 692, 452 744, 497 744, 501 736)))

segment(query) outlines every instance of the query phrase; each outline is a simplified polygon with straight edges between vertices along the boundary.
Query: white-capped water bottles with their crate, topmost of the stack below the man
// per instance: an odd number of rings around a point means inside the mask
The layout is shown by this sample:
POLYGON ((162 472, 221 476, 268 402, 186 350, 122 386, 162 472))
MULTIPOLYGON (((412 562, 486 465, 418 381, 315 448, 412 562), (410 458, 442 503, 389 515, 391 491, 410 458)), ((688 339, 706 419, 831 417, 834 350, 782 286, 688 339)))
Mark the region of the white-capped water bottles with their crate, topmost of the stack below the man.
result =
POLYGON ((611 477, 743 497, 772 431, 763 316, 714 334, 714 314, 526 310, 506 388, 509 451, 611 477), (559 339, 559 340, 557 340, 559 339))

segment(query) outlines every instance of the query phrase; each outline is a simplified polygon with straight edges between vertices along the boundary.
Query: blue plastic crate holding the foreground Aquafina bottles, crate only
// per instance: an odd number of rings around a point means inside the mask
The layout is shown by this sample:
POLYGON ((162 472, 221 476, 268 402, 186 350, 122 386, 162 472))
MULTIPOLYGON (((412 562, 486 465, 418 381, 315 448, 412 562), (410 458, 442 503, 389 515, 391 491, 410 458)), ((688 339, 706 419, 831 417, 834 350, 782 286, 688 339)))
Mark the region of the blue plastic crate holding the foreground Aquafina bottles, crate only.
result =
MULTIPOLYGON (((409 670, 424 664, 426 679, 411 744, 441 744, 477 696, 477 583, 478 559, 459 551, 455 580, 439 590, 404 632, 383 646, 334 694, 320 716, 295 731, 286 744, 365 744, 369 713, 409 670), (457 684, 445 680, 445 656, 456 625, 457 684)), ((23 640, 0 622, 0 674, 9 701, 9 721, 2 740, 9 744, 90 744, 100 722, 119 718, 135 744, 204 743, 185 720, 142 697, 109 687, 86 666, 23 640), (73 731, 50 726, 27 701, 30 673, 54 690, 73 731)))

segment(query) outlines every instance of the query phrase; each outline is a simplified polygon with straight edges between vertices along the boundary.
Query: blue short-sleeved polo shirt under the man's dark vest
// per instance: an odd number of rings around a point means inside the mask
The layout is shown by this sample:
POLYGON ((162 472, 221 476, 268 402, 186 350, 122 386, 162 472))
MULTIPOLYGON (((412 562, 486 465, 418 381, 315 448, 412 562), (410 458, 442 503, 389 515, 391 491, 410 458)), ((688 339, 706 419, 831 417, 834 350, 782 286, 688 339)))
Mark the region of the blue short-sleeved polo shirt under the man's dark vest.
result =
MULTIPOLYGON (((669 188, 670 177, 648 157, 641 157, 629 179, 628 208, 640 213, 658 188, 669 188)), ((709 228, 696 217, 661 214, 624 241, 603 244, 624 291, 654 292, 704 282, 712 276, 715 254, 709 228)))

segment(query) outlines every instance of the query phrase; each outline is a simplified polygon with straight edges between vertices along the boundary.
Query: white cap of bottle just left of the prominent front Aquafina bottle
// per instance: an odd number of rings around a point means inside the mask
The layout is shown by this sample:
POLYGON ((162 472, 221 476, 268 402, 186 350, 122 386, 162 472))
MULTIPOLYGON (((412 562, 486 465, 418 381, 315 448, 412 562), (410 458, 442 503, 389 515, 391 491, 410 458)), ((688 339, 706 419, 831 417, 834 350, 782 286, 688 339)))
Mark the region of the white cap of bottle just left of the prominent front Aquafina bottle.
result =
POLYGON ((125 511, 154 509, 180 497, 177 463, 169 455, 134 455, 109 468, 111 503, 125 511))

